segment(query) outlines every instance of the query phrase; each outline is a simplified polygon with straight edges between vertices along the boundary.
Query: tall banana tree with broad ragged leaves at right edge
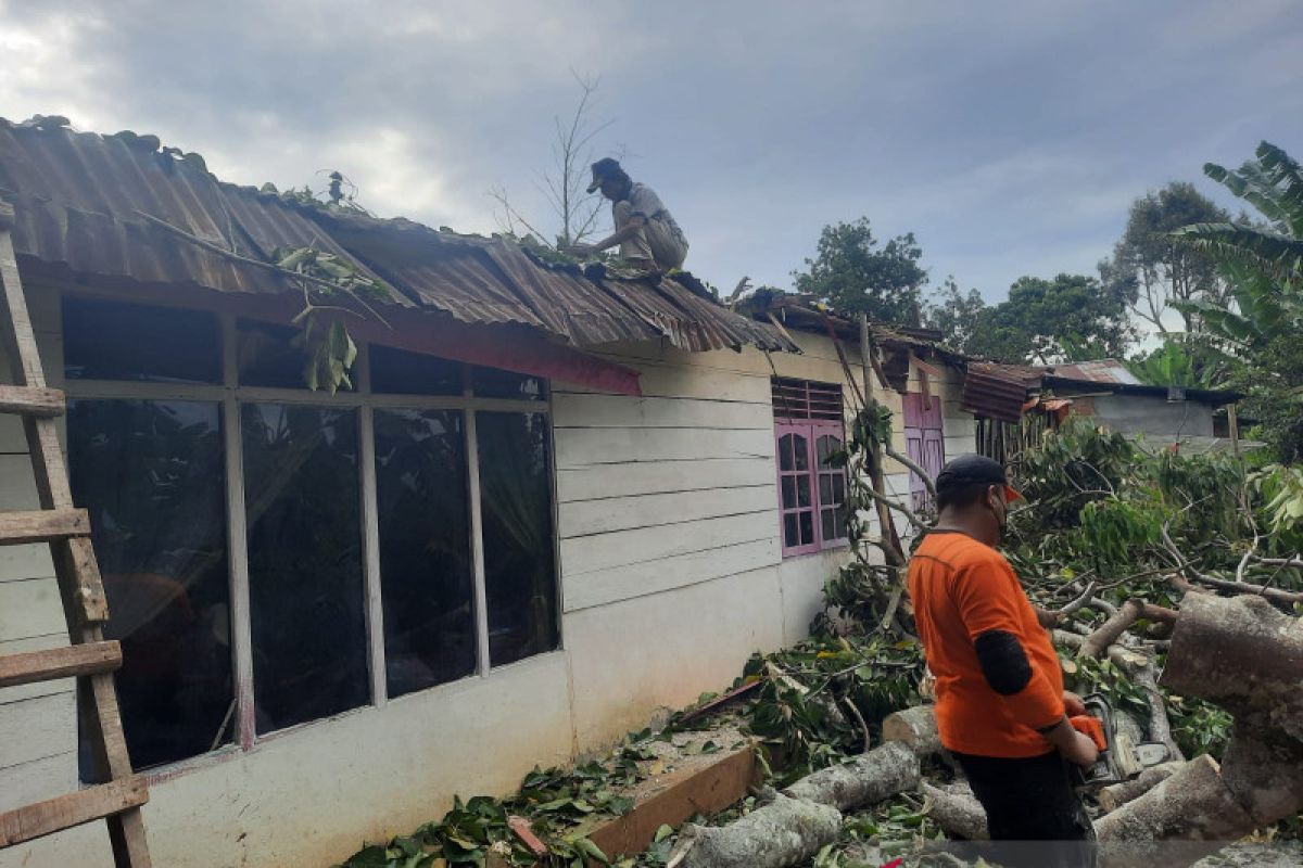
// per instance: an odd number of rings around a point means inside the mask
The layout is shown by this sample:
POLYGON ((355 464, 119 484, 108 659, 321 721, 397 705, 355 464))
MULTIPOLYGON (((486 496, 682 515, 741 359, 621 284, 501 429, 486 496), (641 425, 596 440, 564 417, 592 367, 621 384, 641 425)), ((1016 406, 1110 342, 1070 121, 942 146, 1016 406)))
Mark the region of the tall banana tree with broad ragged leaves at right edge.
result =
POLYGON ((1252 204, 1267 225, 1197 223, 1171 233, 1173 243, 1209 258, 1229 298, 1195 298, 1182 311, 1242 362, 1231 384, 1247 394, 1246 415, 1282 461, 1303 458, 1303 169, 1263 142, 1239 170, 1204 165, 1204 174, 1252 204), (1234 310, 1233 310, 1234 308, 1234 310))

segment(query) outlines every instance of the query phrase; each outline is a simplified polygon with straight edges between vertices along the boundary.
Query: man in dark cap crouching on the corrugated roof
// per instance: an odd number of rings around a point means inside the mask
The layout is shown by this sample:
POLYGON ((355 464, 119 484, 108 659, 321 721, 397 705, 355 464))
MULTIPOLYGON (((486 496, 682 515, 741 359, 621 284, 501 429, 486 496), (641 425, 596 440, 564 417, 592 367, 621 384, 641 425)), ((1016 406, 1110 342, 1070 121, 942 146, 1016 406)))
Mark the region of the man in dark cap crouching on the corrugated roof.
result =
POLYGON ((611 157, 593 164, 593 182, 588 185, 588 191, 598 187, 611 200, 615 233, 595 245, 571 245, 571 254, 592 256, 619 246, 620 258, 640 271, 663 272, 683 267, 688 239, 652 187, 629 178, 611 157))

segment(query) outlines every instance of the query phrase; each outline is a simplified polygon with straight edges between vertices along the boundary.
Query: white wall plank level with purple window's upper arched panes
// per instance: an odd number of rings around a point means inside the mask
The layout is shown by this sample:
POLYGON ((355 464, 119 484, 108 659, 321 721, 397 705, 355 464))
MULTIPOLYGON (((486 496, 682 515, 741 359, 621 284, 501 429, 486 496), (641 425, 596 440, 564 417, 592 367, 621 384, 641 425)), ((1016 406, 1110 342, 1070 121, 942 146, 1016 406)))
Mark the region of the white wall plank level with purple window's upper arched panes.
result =
POLYGON ((774 459, 774 429, 700 431, 697 428, 564 428, 556 432, 562 468, 632 461, 701 458, 774 459))

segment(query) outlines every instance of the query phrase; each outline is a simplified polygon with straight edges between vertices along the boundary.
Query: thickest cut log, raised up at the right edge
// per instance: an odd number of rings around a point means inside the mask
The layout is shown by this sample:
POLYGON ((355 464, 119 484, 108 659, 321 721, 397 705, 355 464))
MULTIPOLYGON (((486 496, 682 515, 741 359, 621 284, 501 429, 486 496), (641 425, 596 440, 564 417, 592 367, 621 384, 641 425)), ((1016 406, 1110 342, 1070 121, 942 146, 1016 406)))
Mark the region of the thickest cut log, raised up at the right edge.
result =
POLYGON ((1162 685, 1303 742, 1303 619, 1256 596, 1187 593, 1162 685))

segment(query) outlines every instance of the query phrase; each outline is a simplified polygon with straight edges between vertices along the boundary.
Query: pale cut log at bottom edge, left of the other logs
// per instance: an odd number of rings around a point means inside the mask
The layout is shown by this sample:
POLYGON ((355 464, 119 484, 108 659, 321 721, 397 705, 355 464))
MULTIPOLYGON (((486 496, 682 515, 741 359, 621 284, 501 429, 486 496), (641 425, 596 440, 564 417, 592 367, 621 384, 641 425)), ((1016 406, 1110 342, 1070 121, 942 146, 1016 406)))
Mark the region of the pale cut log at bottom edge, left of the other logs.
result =
POLYGON ((684 826, 670 854, 679 868, 787 868, 810 859, 842 833, 842 812, 777 795, 727 826, 684 826))

